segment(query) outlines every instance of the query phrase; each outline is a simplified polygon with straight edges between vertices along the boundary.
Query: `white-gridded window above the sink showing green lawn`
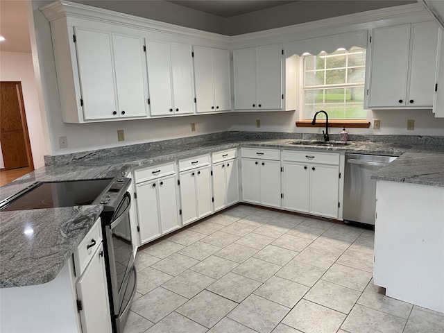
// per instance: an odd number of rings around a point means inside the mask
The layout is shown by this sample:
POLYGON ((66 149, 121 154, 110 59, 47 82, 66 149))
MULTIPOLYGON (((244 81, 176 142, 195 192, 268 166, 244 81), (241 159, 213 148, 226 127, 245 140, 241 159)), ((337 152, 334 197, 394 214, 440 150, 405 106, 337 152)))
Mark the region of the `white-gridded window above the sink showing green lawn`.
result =
POLYGON ((319 110, 325 110, 329 119, 366 119, 365 49, 338 49, 318 56, 304 55, 303 59, 304 119, 313 119, 319 110))

